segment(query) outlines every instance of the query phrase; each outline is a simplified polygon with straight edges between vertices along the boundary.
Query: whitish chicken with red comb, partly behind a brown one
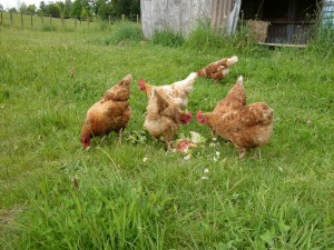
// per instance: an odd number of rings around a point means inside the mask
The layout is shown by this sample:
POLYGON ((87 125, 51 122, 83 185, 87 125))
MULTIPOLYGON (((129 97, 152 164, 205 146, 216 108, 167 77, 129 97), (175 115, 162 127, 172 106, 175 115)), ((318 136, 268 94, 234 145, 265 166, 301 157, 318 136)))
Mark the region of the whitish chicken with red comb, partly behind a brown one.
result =
POLYGON ((167 86, 151 86, 146 83, 144 79, 140 79, 138 81, 138 87, 141 91, 145 91, 149 99, 155 99, 155 96, 153 94, 154 89, 163 91, 170 102, 174 102, 178 108, 184 109, 188 104, 188 94, 193 90, 196 77, 197 73, 193 72, 186 79, 167 86))

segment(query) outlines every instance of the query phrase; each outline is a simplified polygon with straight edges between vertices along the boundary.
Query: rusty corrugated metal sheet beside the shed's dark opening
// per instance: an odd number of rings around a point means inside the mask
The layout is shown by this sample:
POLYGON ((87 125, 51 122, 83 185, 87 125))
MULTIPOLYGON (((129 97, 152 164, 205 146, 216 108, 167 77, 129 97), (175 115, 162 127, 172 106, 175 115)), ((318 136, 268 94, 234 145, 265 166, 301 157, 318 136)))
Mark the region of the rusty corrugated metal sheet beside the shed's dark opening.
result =
POLYGON ((212 0, 212 30, 233 34, 236 31, 242 0, 212 0))

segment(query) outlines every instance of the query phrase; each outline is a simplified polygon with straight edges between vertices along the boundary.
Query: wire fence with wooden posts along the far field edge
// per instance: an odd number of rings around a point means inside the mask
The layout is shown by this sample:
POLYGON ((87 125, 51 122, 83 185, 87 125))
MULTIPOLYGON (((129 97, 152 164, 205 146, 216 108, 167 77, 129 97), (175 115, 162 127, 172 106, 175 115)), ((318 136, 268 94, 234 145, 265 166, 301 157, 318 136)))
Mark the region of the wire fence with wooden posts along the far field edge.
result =
POLYGON ((135 22, 140 22, 139 16, 126 17, 121 14, 120 17, 109 16, 107 19, 101 20, 98 16, 89 18, 77 18, 77 17, 60 17, 55 18, 52 16, 38 16, 38 14, 24 14, 14 13, 8 11, 0 11, 0 26, 21 28, 21 29, 39 29, 39 28, 79 28, 89 27, 91 23, 104 22, 107 24, 112 24, 115 21, 119 20, 131 20, 135 22))

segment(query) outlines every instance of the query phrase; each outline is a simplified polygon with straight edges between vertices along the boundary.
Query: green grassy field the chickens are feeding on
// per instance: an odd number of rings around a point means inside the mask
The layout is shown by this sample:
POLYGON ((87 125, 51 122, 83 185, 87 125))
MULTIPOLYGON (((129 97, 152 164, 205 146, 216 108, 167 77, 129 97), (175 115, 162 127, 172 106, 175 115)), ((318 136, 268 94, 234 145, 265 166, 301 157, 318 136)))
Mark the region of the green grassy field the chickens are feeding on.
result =
POLYGON ((137 34, 129 42, 129 29, 138 27, 0 27, 2 249, 333 249, 331 48, 243 49, 237 37, 205 30, 170 48, 137 34), (110 37, 125 42, 106 46, 110 37), (209 147, 213 134, 196 120, 179 129, 207 140, 190 160, 139 132, 147 104, 139 79, 171 83, 233 54, 239 62, 226 79, 196 80, 188 110, 212 110, 243 74, 248 101, 275 110, 258 160, 238 159, 220 139, 209 147), (87 109, 128 73, 132 118, 122 142, 111 133, 84 151, 87 109))

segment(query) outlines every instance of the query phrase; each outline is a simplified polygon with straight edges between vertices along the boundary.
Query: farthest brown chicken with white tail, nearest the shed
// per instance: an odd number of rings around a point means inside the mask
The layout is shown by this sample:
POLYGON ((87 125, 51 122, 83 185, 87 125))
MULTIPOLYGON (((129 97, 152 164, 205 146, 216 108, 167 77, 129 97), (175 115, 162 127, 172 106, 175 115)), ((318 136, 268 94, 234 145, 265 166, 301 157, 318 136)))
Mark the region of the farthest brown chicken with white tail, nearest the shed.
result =
POLYGON ((217 81, 225 78, 229 72, 229 68, 237 61, 238 58, 236 56, 223 58, 216 62, 209 63, 200 70, 197 70, 197 74, 198 77, 212 78, 217 81))

